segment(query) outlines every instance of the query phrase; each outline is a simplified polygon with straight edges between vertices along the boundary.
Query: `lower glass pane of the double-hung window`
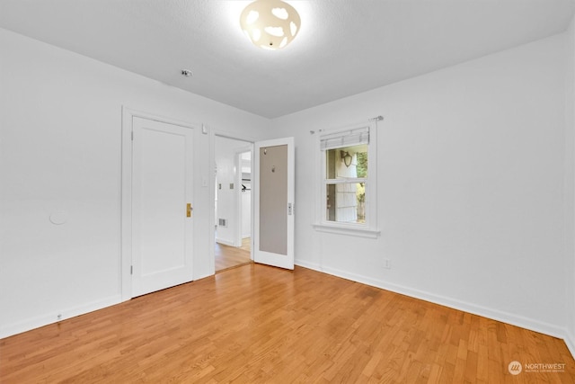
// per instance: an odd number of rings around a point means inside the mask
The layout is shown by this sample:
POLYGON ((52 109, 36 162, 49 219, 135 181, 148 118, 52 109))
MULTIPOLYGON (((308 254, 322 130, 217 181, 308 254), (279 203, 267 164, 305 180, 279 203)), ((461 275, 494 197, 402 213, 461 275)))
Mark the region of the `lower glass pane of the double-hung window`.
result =
POLYGON ((326 188, 325 219, 346 223, 366 221, 365 183, 327 184, 326 188))

